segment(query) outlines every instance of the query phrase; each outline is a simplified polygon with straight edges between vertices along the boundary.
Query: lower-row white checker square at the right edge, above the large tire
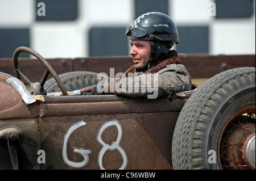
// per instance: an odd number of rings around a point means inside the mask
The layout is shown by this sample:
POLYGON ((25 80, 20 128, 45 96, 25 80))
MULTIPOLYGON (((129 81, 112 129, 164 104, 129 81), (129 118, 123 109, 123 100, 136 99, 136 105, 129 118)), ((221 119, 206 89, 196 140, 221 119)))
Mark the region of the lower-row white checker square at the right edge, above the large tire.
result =
POLYGON ((255 54, 255 22, 218 20, 211 25, 212 54, 255 54))

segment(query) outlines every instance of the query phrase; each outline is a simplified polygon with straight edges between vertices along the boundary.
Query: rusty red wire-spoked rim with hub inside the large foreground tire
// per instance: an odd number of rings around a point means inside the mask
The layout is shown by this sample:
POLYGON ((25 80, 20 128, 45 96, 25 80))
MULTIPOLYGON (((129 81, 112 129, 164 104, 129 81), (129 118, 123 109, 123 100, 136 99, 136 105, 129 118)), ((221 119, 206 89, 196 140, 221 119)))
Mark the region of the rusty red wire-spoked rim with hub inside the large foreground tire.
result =
POLYGON ((255 169, 253 144, 255 145, 255 104, 234 112, 222 127, 218 140, 220 169, 255 169))

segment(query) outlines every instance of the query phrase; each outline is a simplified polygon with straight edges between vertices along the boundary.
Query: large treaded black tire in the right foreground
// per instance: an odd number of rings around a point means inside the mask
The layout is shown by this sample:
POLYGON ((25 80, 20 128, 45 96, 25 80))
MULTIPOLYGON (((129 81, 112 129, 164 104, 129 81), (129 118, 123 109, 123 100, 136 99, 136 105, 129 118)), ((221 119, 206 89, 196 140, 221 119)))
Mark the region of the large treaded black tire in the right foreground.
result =
POLYGON ((234 127, 238 124, 234 121, 245 117, 255 134, 255 68, 226 70, 208 79, 193 92, 177 119, 172 140, 173 168, 241 169, 222 161, 226 159, 222 158, 222 140, 226 138, 225 129, 230 130, 230 124, 234 127), (216 155, 209 162, 212 153, 216 155))

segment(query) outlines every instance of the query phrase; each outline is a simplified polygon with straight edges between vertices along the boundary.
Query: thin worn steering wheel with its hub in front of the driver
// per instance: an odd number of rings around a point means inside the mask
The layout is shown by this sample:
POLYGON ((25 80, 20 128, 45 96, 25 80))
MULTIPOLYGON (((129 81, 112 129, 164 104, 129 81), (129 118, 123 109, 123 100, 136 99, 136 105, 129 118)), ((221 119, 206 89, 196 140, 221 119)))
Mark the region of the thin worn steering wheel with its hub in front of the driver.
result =
POLYGON ((44 83, 46 83, 47 77, 49 75, 49 73, 52 74, 53 78, 55 79, 55 81, 57 82, 57 84, 60 87, 61 92, 63 93, 63 95, 68 95, 63 83, 60 81, 59 76, 57 75, 56 71, 52 68, 52 66, 37 52, 35 52, 34 50, 32 50, 31 48, 28 47, 19 47, 15 50, 14 54, 13 54, 13 68, 14 68, 14 73, 16 78, 20 79, 20 81, 22 81, 22 78, 24 79, 24 81, 26 81, 28 84, 30 84, 30 87, 32 90, 30 90, 31 94, 42 94, 42 95, 46 95, 46 91, 43 89, 44 83), (27 52, 32 54, 33 56, 35 56, 36 58, 38 58, 38 60, 40 62, 42 62, 44 64, 44 66, 46 66, 47 70, 46 73, 44 73, 40 83, 36 82, 36 83, 31 83, 22 73, 21 71, 19 71, 19 66, 18 66, 18 57, 19 54, 21 52, 27 52))

